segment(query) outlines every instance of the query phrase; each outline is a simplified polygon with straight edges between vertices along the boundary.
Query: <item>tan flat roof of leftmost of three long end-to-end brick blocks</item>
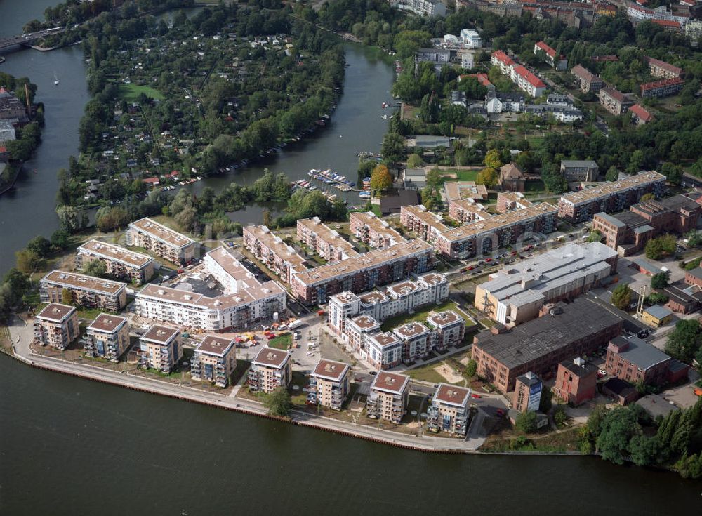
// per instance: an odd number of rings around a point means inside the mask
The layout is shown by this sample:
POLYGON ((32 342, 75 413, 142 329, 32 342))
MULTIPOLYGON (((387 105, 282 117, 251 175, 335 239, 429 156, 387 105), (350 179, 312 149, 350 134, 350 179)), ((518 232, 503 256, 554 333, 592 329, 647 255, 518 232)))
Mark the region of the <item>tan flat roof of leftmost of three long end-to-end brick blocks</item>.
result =
POLYGON ((312 270, 296 272, 294 277, 296 281, 308 286, 324 283, 334 277, 347 276, 355 274, 359 270, 378 267, 384 263, 404 260, 411 256, 418 256, 419 254, 428 253, 432 249, 430 244, 416 238, 408 242, 398 242, 397 244, 392 244, 383 249, 374 249, 361 256, 346 258, 337 263, 321 265, 312 270))

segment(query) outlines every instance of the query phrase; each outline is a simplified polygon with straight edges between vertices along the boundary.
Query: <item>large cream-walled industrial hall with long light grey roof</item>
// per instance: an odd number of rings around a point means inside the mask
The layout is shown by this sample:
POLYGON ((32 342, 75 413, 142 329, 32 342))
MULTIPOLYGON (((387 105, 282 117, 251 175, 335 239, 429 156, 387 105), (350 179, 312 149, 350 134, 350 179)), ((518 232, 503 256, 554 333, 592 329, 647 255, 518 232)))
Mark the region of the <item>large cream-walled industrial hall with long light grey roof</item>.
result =
POLYGON ((490 319, 515 326, 537 317, 543 305, 572 299, 616 274, 618 255, 600 242, 574 243, 506 265, 475 291, 475 307, 490 319))

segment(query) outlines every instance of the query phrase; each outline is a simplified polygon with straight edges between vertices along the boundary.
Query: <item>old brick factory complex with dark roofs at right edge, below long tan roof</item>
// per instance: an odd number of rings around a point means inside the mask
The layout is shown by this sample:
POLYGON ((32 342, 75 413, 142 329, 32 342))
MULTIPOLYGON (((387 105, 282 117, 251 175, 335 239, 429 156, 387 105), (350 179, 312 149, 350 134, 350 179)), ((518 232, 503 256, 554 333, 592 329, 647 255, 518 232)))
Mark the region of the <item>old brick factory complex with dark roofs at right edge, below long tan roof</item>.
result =
POLYGON ((702 206, 684 195, 642 201, 615 215, 595 213, 592 230, 604 237, 604 243, 629 256, 644 249, 649 239, 661 233, 684 234, 697 227, 702 206))

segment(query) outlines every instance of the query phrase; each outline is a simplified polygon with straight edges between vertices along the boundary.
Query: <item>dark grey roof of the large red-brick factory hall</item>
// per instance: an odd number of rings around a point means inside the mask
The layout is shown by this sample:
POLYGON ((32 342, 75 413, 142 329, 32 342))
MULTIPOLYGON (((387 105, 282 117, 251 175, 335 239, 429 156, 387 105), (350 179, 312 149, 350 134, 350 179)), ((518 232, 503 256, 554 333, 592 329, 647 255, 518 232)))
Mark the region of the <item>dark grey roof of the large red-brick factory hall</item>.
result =
POLYGON ((559 303, 554 311, 560 313, 532 319, 505 333, 479 333, 474 345, 508 369, 514 369, 622 320, 607 308, 582 297, 569 304, 559 303))

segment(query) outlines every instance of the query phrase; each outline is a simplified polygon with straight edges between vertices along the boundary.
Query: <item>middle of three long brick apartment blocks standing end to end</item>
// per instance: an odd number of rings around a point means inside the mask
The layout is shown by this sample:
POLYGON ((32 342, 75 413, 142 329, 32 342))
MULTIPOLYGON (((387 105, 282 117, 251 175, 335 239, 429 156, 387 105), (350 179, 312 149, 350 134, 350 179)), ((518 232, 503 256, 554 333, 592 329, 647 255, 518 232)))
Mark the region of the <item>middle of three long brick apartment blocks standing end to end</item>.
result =
POLYGON ((524 234, 552 232, 556 227, 557 212, 555 206, 542 202, 450 228, 435 239, 435 251, 450 260, 465 260, 489 253, 515 244, 524 234))

